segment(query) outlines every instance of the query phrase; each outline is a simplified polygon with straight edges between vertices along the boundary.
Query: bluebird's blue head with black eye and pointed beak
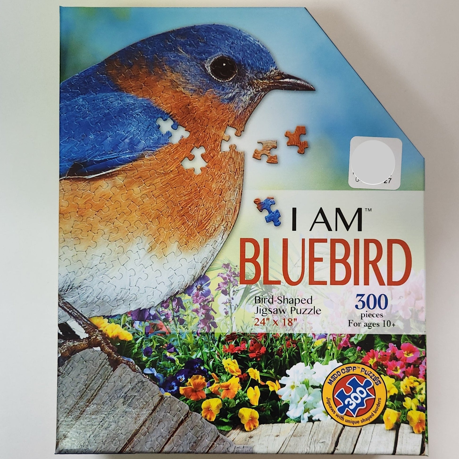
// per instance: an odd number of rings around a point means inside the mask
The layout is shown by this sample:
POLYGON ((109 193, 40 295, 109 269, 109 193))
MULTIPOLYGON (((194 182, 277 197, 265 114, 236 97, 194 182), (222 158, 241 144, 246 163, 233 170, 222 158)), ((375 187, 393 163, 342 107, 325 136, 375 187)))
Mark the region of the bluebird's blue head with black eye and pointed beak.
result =
POLYGON ((197 25, 154 35, 118 51, 121 62, 133 54, 152 73, 162 71, 175 88, 202 97, 212 94, 231 106, 243 129, 257 104, 271 90, 313 91, 307 81, 282 72, 269 50, 251 35, 224 25, 197 25))

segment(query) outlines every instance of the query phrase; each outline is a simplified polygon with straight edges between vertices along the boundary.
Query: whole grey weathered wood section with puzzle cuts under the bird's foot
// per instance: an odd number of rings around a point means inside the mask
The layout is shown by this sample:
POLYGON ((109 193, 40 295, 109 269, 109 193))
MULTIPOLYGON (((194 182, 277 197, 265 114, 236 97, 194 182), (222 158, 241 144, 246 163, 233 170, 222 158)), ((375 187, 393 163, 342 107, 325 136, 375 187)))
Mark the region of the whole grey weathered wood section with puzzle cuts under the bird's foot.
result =
POLYGON ((250 453, 126 365, 87 349, 58 371, 56 453, 250 453))

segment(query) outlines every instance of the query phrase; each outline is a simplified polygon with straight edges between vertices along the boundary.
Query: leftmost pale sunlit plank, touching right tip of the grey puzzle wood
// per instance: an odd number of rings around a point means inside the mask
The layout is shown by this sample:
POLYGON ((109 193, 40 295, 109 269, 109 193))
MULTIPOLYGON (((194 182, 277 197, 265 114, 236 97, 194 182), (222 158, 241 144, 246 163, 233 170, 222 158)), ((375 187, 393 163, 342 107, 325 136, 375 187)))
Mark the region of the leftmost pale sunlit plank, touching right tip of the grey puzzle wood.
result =
POLYGON ((296 427, 297 424, 261 424, 250 432, 235 430, 230 438, 236 445, 251 446, 254 453, 279 453, 296 427))

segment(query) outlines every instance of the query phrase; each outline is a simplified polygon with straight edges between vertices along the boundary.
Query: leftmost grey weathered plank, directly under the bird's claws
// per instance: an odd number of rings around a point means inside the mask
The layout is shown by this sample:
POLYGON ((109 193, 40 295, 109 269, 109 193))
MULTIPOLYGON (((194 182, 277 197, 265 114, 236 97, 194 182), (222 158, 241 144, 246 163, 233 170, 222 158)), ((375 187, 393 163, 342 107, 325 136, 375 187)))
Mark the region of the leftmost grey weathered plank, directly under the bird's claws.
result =
POLYGON ((57 439, 69 431, 112 374, 104 353, 85 349, 58 369, 57 439))

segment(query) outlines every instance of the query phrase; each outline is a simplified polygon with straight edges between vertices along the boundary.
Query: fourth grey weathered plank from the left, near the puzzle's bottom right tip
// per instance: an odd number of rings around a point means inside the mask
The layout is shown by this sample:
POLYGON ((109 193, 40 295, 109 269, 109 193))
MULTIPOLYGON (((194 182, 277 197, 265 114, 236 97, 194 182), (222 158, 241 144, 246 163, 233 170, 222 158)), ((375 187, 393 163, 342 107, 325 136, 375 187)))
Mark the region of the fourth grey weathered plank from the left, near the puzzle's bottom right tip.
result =
POLYGON ((201 414, 190 411, 161 452, 207 453, 217 436, 214 425, 204 420, 201 414))

